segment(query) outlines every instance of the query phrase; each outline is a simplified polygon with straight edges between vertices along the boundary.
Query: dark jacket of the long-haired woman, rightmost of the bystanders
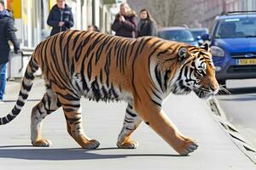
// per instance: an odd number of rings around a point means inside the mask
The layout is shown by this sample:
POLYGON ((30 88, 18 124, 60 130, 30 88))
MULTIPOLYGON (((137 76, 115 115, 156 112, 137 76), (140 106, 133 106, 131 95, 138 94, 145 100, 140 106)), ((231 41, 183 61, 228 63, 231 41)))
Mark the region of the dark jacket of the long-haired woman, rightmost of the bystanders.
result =
POLYGON ((157 36, 157 26, 152 20, 140 20, 137 28, 137 37, 157 36))

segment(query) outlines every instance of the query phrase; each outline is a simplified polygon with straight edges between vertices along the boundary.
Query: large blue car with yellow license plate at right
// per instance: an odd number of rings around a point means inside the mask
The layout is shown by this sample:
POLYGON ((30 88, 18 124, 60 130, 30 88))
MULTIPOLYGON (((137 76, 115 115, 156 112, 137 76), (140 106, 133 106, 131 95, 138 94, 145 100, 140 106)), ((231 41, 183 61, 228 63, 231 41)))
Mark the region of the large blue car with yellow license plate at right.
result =
POLYGON ((231 12, 218 16, 210 40, 216 77, 225 85, 227 79, 256 78, 256 13, 231 12))

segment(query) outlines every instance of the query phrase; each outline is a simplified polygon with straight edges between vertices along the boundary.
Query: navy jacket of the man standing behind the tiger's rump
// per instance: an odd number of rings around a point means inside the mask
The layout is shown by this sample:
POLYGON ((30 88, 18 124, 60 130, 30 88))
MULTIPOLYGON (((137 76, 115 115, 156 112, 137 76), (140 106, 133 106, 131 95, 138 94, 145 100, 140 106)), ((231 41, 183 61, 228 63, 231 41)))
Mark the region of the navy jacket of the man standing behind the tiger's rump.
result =
POLYGON ((55 4, 55 6, 53 6, 53 8, 51 8, 49 12, 47 24, 53 27, 50 32, 50 36, 55 35, 60 31, 69 30, 73 26, 73 14, 71 8, 68 7, 67 4, 65 4, 65 8, 61 10, 55 4), (60 21, 65 22, 64 26, 59 26, 60 21))

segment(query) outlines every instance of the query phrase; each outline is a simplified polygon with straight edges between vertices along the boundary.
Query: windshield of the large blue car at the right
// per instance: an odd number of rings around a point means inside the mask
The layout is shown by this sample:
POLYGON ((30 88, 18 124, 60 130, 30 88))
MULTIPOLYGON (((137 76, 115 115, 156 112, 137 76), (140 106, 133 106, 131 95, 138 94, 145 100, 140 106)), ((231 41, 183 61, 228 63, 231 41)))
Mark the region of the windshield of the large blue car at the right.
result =
POLYGON ((256 37, 256 17, 219 20, 214 37, 256 37))

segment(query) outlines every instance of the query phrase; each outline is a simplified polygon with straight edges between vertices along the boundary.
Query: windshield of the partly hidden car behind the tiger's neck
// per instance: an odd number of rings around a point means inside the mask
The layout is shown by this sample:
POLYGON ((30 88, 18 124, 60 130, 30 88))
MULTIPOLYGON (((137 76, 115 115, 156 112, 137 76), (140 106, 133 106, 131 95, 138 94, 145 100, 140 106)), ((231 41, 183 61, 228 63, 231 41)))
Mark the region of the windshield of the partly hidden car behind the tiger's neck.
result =
POLYGON ((166 40, 177 42, 194 42, 195 39, 188 30, 160 31, 160 37, 166 40))

